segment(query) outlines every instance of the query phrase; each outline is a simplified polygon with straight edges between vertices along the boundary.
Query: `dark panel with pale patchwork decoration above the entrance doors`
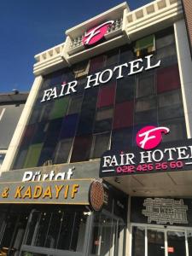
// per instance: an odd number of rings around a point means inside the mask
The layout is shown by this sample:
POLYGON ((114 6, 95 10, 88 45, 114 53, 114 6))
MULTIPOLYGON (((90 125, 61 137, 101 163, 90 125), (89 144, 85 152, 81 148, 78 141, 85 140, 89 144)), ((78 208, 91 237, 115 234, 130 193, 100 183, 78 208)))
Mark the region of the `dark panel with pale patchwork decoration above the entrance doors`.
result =
POLYGON ((192 226, 192 199, 131 197, 131 222, 192 226))

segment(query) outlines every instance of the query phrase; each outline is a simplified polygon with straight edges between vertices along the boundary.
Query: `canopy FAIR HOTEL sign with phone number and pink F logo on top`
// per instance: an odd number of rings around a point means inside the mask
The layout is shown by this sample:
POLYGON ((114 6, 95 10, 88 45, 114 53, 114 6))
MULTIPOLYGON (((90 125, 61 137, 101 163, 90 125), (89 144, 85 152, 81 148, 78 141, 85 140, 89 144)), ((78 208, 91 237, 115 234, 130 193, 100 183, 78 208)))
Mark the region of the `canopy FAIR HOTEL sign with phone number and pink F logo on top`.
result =
POLYGON ((143 127, 135 138, 137 146, 129 152, 102 155, 100 177, 192 170, 192 139, 162 143, 169 132, 167 127, 143 127))

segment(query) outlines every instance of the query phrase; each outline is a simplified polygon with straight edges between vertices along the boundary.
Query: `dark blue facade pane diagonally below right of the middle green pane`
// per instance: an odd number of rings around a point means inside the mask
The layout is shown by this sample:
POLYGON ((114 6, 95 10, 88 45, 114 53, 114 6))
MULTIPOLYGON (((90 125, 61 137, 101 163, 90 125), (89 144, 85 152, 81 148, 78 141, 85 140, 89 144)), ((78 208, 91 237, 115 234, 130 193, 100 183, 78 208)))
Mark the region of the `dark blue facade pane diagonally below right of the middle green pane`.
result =
POLYGON ((60 138, 74 137, 78 125, 79 114, 67 115, 61 125, 60 138))

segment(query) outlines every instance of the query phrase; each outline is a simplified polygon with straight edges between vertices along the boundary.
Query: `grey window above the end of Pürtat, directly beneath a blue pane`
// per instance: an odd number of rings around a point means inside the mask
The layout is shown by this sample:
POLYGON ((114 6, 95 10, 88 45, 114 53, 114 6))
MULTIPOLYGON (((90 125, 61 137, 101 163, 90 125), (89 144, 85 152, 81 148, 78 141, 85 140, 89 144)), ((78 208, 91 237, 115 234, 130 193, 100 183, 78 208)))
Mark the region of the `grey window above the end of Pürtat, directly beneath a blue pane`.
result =
POLYGON ((72 144, 73 138, 66 138, 57 143, 55 149, 55 164, 67 163, 72 144))

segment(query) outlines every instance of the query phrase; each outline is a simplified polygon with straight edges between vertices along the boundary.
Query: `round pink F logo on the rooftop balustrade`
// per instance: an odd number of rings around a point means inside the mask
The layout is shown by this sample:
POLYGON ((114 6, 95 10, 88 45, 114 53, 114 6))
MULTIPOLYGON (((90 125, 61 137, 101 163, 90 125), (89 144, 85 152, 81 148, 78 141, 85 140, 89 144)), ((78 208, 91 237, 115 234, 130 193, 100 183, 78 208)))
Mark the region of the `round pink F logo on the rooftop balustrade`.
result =
POLYGON ((88 32, 85 32, 82 42, 84 45, 96 44, 101 40, 104 35, 108 32, 108 27, 114 23, 113 20, 108 20, 99 26, 91 28, 88 32))

